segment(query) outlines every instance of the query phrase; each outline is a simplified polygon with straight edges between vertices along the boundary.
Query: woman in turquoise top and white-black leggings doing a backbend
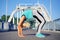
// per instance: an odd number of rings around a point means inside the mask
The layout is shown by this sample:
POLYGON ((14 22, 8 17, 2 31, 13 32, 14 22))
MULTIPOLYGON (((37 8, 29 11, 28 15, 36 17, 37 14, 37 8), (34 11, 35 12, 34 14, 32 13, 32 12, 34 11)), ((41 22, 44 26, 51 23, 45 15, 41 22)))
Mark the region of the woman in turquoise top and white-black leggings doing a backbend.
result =
POLYGON ((27 19, 32 19, 33 17, 36 18, 40 22, 39 29, 38 29, 38 32, 36 33, 36 36, 37 37, 45 37, 43 34, 40 33, 41 27, 44 25, 45 20, 44 20, 43 16, 38 11, 33 11, 31 9, 27 9, 23 12, 23 15, 22 15, 20 22, 18 24, 18 36, 19 37, 24 37, 24 35, 22 33, 22 28, 27 27, 26 25, 23 25, 24 21, 27 19))

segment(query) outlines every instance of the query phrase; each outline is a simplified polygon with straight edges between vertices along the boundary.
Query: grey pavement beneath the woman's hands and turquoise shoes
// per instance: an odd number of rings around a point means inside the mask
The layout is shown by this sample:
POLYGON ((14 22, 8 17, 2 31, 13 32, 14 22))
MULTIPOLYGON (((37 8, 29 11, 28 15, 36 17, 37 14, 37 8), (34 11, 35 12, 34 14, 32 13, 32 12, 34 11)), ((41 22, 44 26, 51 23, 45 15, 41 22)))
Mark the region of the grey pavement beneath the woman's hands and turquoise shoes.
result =
POLYGON ((60 33, 41 31, 46 37, 38 38, 35 30, 23 30, 24 38, 17 35, 17 31, 0 32, 0 40, 60 40, 60 33))

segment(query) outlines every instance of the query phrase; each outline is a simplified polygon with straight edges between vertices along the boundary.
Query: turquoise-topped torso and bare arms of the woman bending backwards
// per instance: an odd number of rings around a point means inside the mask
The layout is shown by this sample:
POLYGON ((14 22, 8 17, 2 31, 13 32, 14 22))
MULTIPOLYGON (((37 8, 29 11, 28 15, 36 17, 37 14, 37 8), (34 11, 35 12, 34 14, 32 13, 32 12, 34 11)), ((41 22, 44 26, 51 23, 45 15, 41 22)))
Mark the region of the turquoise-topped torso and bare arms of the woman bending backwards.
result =
MULTIPOLYGON (((31 9, 27 9, 23 12, 23 15, 20 19, 20 22, 18 23, 18 36, 19 37, 24 37, 23 33, 22 33, 22 28, 23 27, 28 27, 27 25, 24 25, 24 21, 27 19, 31 19, 33 18, 33 14, 32 14, 32 10, 31 9)), ((27 23, 29 25, 29 23, 27 23)))

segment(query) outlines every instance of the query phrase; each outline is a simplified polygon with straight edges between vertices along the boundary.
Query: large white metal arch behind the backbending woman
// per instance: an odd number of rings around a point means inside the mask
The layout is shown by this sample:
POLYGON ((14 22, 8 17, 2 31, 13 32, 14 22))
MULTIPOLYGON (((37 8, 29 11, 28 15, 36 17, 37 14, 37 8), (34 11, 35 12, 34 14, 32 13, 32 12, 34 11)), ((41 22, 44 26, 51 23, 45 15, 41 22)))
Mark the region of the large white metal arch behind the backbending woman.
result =
MULTIPOLYGON (((27 9, 29 6, 17 6, 16 9, 11 13, 11 16, 8 20, 8 22, 11 21, 11 19, 13 18, 13 15, 17 12, 17 11, 20 11, 20 10, 23 10, 23 9, 27 9)), ((35 6, 30 6, 30 8, 32 10, 38 10, 40 13, 44 13, 44 18, 47 22, 51 21, 51 18, 49 17, 48 15, 48 12, 47 10, 43 7, 43 6, 40 6, 40 5, 35 5, 35 6)))

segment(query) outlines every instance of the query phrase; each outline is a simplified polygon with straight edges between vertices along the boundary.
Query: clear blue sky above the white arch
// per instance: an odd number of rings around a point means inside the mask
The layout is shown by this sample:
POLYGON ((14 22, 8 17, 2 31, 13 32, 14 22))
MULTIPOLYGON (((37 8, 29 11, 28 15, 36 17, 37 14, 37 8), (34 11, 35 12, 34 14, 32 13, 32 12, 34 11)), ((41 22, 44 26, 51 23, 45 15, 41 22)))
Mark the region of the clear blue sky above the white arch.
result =
MULTIPOLYGON (((18 4, 32 4, 37 3, 38 0, 8 0, 8 15, 11 15, 12 11, 16 8, 18 4)), ((50 0, 39 0, 40 4, 43 4, 50 15, 50 0)), ((52 19, 60 18, 60 0, 51 0, 52 6, 52 19)), ((0 17, 6 14, 6 0, 0 0, 0 17)))

